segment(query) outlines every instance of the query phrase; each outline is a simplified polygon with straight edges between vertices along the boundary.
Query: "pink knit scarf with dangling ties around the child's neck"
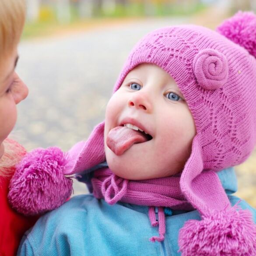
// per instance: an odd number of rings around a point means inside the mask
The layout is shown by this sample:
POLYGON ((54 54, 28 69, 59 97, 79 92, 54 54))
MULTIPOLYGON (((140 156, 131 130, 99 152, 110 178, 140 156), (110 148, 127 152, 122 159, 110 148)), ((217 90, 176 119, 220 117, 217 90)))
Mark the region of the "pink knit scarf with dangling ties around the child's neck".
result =
POLYGON ((149 206, 149 219, 153 227, 159 225, 159 237, 150 238, 152 242, 161 242, 165 239, 165 213, 164 207, 173 210, 193 210, 192 205, 182 195, 179 176, 128 180, 123 179, 111 172, 109 168, 95 171, 91 180, 94 196, 104 198, 109 204, 118 201, 149 206), (155 207, 158 208, 158 220, 156 219, 155 207))

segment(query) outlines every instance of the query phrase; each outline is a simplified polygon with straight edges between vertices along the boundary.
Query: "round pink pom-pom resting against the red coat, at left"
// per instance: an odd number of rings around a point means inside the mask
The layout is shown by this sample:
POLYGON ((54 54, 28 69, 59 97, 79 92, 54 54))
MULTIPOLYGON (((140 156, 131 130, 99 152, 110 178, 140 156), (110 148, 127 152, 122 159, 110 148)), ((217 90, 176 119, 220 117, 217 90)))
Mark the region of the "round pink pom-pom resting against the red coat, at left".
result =
POLYGON ((18 164, 11 179, 8 194, 11 206, 25 215, 59 207, 72 192, 72 179, 63 175, 67 165, 67 156, 58 147, 31 151, 18 164))

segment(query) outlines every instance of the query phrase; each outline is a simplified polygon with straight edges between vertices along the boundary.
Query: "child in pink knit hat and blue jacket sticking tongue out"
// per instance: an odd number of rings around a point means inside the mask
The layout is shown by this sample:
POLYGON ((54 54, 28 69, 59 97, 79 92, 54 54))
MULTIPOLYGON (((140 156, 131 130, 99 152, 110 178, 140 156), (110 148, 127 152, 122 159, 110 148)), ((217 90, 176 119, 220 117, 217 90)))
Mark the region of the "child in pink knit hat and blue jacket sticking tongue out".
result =
POLYGON ((255 147, 255 98, 254 14, 149 33, 89 139, 19 165, 9 198, 25 214, 59 207, 77 173, 93 195, 41 217, 18 255, 256 256, 256 211, 231 195, 230 168, 255 147))

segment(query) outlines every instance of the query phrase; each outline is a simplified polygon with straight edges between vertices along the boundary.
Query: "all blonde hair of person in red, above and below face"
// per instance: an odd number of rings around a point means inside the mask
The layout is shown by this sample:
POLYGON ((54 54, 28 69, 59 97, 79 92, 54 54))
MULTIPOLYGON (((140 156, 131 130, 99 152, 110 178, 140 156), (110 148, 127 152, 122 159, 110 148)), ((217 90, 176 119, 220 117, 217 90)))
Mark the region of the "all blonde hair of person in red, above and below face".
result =
MULTIPOLYGON (((25 0, 0 0, 0 61, 16 49, 25 23, 25 12, 25 0)), ((0 176, 11 174, 11 167, 18 163, 24 151, 8 139, 4 141, 4 147, 0 176)))

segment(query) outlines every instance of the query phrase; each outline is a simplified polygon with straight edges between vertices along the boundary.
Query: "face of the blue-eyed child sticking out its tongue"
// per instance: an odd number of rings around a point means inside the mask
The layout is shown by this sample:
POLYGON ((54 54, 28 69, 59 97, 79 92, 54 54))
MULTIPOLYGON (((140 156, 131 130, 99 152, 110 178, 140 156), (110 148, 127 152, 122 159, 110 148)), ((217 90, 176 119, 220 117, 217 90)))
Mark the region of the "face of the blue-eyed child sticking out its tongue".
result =
POLYGON ((106 108, 106 159, 112 172, 125 179, 152 179, 181 172, 195 134, 193 117, 175 81, 153 64, 140 64, 130 71, 106 108), (147 131, 152 139, 138 143, 136 134, 140 132, 124 130, 129 129, 121 127, 126 123, 147 131), (112 130, 117 126, 121 137, 112 130), (128 137, 135 143, 127 142, 128 137))

